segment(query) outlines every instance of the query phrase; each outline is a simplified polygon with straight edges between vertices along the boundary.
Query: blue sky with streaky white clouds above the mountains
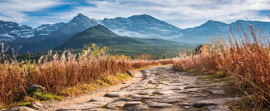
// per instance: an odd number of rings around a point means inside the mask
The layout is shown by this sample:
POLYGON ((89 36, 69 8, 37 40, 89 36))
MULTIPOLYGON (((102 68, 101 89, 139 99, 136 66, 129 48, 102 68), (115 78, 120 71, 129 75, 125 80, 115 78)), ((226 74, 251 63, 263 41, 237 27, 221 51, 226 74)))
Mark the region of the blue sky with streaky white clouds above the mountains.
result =
POLYGON ((147 14, 179 28, 208 20, 270 22, 270 0, 0 0, 0 20, 36 28, 68 23, 82 13, 90 19, 147 14))

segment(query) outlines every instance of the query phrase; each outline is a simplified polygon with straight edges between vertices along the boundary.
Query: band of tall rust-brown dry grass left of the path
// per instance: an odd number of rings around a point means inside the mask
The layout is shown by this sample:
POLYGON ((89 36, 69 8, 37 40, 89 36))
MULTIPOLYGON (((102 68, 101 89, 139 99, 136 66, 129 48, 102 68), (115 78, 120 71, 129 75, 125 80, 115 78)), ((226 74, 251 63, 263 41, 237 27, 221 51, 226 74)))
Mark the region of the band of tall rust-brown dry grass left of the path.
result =
POLYGON ((48 93, 59 95, 64 88, 78 84, 91 84, 97 80, 109 82, 108 76, 117 76, 125 70, 173 63, 172 59, 131 60, 123 55, 113 56, 107 54, 107 47, 99 48, 96 44, 86 47, 78 59, 70 51, 64 51, 62 55, 52 55, 49 51, 36 62, 17 62, 16 55, 6 55, 7 48, 4 44, 1 46, 0 106, 12 103, 33 84, 45 87, 48 93))

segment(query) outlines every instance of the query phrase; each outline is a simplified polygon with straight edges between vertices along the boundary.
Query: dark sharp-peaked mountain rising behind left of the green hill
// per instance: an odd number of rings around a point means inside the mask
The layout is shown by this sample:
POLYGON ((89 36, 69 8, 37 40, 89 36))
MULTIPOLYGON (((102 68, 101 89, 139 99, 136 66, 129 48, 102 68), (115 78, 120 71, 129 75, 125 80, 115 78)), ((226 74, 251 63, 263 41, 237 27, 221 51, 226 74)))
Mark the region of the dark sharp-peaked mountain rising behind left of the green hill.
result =
POLYGON ((89 27, 96 26, 98 23, 100 23, 99 20, 89 19, 87 16, 78 14, 73 17, 69 23, 65 23, 58 30, 51 32, 42 40, 37 39, 37 37, 31 37, 12 41, 8 43, 8 45, 10 45, 11 48, 18 48, 23 45, 19 52, 46 51, 60 46, 67 42, 76 33, 82 32, 89 27))

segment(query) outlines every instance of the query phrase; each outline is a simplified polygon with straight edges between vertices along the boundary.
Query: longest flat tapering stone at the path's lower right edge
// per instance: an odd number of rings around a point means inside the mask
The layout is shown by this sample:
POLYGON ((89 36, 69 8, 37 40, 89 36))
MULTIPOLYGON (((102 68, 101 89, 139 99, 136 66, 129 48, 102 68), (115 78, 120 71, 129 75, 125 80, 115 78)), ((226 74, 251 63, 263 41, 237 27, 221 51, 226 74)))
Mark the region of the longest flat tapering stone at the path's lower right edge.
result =
POLYGON ((218 105, 229 101, 238 100, 240 98, 218 98, 218 99, 211 99, 211 100, 204 100, 204 101, 198 101, 193 103, 194 107, 203 107, 206 105, 218 105))

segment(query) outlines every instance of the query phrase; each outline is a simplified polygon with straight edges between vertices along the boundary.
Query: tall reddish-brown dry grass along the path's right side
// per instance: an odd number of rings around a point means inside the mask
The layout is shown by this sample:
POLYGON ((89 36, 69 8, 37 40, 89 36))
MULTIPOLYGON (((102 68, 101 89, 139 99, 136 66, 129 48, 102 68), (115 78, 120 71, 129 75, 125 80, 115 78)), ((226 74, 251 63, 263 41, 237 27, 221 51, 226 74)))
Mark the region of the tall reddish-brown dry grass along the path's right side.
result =
POLYGON ((225 72, 235 78, 235 84, 242 91, 259 97, 253 105, 267 108, 270 105, 269 37, 262 29, 254 28, 251 22, 248 28, 241 23, 237 26, 240 38, 232 34, 231 27, 228 38, 218 36, 206 43, 200 54, 180 54, 180 58, 173 62, 173 68, 179 71, 225 72))

